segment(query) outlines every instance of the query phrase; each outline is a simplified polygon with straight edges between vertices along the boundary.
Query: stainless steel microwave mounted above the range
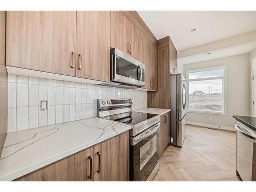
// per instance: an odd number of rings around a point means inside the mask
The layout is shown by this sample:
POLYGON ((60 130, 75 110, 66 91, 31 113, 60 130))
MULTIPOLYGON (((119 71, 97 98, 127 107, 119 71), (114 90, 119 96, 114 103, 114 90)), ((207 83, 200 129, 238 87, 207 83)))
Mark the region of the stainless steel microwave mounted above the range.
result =
POLYGON ((111 49, 111 82, 105 85, 123 88, 140 88, 145 86, 145 65, 135 58, 111 49))

